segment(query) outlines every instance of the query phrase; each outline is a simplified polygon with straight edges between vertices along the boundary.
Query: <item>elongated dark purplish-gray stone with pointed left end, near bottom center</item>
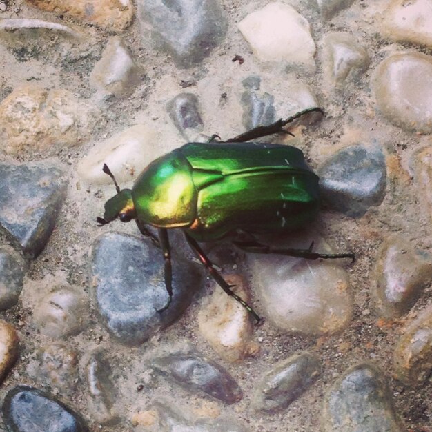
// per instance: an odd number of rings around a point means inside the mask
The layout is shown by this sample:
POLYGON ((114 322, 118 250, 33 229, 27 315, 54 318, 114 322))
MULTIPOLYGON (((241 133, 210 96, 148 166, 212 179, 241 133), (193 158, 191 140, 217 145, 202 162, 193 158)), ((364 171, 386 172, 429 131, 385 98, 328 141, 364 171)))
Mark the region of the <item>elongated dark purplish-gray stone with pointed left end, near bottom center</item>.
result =
POLYGON ((226 404, 242 399, 242 389, 222 366, 195 354, 173 353, 154 359, 152 366, 186 390, 205 393, 226 404))

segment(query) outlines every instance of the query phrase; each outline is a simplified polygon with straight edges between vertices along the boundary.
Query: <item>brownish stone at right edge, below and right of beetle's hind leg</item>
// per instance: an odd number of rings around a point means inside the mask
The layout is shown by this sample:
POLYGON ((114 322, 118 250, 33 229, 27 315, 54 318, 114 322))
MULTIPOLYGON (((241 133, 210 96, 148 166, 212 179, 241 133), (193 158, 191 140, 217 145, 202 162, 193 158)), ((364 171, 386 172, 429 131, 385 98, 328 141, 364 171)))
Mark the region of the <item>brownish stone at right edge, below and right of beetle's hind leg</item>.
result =
POLYGON ((400 237, 388 239, 378 252, 372 295, 383 317, 407 313, 432 278, 432 257, 415 251, 400 237))

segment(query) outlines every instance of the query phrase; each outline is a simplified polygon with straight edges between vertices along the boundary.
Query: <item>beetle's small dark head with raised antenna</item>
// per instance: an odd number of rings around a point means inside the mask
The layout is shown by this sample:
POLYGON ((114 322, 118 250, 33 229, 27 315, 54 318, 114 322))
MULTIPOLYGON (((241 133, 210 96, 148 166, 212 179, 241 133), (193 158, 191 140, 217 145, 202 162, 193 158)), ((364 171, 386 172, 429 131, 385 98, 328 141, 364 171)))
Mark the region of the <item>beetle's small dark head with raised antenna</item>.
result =
POLYGON ((104 173, 108 174, 114 181, 117 194, 108 199, 105 203, 104 217, 97 217, 97 223, 99 226, 109 224, 114 219, 117 219, 117 217, 121 222, 129 222, 130 220, 135 219, 136 212, 132 199, 132 190, 120 190, 117 181, 115 181, 114 175, 112 175, 110 168, 108 168, 106 164, 104 164, 104 173))

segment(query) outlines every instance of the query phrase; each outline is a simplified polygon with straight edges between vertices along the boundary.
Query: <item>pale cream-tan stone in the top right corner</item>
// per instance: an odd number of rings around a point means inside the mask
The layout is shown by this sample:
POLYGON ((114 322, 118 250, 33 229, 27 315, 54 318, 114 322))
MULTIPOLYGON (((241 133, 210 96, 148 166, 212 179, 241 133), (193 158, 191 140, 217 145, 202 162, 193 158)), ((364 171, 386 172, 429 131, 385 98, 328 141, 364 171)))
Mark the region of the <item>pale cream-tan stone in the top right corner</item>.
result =
POLYGON ((392 0, 383 15, 380 31, 385 37, 432 48, 431 0, 392 0))

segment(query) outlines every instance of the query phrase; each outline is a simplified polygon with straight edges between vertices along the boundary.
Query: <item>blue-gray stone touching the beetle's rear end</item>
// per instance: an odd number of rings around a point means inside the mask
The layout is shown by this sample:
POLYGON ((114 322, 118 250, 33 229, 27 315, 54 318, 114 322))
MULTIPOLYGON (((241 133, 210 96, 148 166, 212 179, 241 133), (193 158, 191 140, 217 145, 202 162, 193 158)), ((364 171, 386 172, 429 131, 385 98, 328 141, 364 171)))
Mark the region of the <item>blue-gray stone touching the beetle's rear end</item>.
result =
POLYGON ((386 161, 381 148, 343 148, 322 164, 318 175, 324 199, 348 216, 362 217, 384 199, 386 161))

